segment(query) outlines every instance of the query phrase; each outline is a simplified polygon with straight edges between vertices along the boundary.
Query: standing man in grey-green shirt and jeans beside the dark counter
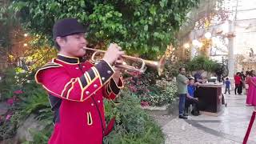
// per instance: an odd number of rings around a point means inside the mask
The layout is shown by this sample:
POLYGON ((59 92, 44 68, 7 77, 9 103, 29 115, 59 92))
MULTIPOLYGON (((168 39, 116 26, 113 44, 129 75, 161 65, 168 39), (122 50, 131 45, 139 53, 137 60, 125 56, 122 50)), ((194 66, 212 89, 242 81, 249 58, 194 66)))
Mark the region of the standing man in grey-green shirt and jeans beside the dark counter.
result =
POLYGON ((179 69, 179 74, 177 76, 177 85, 178 85, 178 118, 187 119, 185 112, 185 103, 186 103, 186 93, 187 93, 187 84, 189 79, 185 76, 186 70, 184 67, 179 69))

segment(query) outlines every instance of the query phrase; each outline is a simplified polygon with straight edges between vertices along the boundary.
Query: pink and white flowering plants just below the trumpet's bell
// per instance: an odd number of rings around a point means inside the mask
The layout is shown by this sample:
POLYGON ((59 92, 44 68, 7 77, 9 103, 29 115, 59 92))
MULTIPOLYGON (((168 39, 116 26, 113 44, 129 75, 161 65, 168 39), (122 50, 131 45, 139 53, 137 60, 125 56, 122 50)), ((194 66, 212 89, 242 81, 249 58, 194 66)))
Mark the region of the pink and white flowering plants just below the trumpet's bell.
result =
POLYGON ((130 73, 124 78, 125 86, 140 98, 141 106, 164 106, 174 101, 177 93, 175 82, 154 78, 153 73, 130 73))

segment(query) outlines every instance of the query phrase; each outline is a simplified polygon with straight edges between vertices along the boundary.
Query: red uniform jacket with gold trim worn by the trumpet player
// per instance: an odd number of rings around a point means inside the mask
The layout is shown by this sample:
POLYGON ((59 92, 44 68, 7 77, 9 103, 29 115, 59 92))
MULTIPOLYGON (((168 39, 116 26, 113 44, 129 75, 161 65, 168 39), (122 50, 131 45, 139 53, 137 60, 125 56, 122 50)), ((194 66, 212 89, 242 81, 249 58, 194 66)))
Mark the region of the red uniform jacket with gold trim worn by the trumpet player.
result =
POLYGON ((54 111, 50 144, 100 144, 106 135, 103 97, 114 99, 123 87, 111 78, 109 63, 91 64, 58 54, 35 74, 54 111))

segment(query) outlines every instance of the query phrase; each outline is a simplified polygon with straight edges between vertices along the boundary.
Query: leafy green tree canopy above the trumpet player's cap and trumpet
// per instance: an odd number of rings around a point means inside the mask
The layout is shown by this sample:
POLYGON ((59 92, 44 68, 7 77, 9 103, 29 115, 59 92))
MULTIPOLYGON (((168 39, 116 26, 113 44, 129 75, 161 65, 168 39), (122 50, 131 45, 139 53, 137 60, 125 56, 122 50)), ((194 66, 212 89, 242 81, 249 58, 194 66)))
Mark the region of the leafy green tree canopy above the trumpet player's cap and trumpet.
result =
POLYGON ((15 0, 9 9, 19 11, 26 29, 47 38, 51 38, 51 28, 57 19, 74 17, 86 26, 90 23, 90 42, 103 46, 117 42, 128 54, 147 54, 155 58, 174 42, 174 34, 198 2, 15 0))

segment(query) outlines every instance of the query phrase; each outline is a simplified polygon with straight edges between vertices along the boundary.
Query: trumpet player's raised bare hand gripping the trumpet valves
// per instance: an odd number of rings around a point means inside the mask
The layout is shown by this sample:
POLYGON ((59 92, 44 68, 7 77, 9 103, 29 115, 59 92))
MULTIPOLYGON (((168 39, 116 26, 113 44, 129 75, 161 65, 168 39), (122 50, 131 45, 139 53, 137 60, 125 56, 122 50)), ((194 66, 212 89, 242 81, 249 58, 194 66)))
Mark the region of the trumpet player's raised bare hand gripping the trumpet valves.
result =
POLYGON ((123 54, 125 54, 125 52, 122 51, 120 46, 116 43, 111 43, 102 59, 112 65, 118 58, 121 58, 123 54))

